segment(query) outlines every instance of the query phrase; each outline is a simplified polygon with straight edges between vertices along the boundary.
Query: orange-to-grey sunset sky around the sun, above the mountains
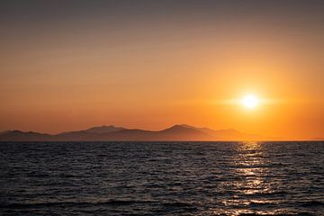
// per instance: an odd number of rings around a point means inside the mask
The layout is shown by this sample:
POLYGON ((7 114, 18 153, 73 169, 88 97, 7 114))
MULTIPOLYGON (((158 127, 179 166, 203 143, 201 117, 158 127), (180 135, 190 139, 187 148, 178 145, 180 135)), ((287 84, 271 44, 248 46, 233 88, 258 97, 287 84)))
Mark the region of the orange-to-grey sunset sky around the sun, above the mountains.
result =
POLYGON ((1 1, 0 130, 324 137, 324 1, 1 1), (238 100, 255 94, 253 109, 238 100))

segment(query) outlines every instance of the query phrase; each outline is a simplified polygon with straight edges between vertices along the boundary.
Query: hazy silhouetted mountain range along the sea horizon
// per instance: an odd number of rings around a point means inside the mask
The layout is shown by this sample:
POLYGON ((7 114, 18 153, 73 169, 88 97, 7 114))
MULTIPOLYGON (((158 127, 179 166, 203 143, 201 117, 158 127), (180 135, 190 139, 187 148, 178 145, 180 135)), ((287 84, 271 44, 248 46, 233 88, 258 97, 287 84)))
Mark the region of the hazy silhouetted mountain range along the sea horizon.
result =
POLYGON ((47 134, 33 131, 5 130, 0 132, 2 141, 99 141, 99 140, 261 140, 257 134, 247 134, 234 129, 211 130, 187 124, 176 124, 165 130, 140 130, 123 127, 100 126, 86 130, 47 134))

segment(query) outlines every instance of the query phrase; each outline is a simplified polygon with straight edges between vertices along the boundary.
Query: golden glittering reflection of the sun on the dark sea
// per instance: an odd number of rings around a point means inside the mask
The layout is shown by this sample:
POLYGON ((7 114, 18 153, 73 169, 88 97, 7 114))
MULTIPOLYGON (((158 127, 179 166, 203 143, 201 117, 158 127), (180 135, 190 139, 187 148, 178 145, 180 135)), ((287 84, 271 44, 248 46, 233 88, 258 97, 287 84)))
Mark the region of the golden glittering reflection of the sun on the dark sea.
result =
POLYGON ((224 188, 233 193, 231 198, 222 203, 230 208, 215 209, 214 214, 266 214, 279 213, 281 210, 257 210, 254 205, 277 204, 278 201, 269 199, 266 194, 274 193, 272 182, 267 181, 271 175, 271 161, 263 150, 261 142, 240 142, 231 157, 233 181, 225 183, 224 188))

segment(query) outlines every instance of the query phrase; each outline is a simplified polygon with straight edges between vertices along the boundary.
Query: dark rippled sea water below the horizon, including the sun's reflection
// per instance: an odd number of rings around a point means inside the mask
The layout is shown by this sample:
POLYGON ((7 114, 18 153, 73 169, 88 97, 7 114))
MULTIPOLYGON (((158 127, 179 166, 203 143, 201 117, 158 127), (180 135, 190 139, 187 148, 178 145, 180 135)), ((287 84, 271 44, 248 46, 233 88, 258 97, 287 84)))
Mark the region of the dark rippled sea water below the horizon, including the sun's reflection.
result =
POLYGON ((324 215, 324 142, 2 142, 0 215, 324 215))

